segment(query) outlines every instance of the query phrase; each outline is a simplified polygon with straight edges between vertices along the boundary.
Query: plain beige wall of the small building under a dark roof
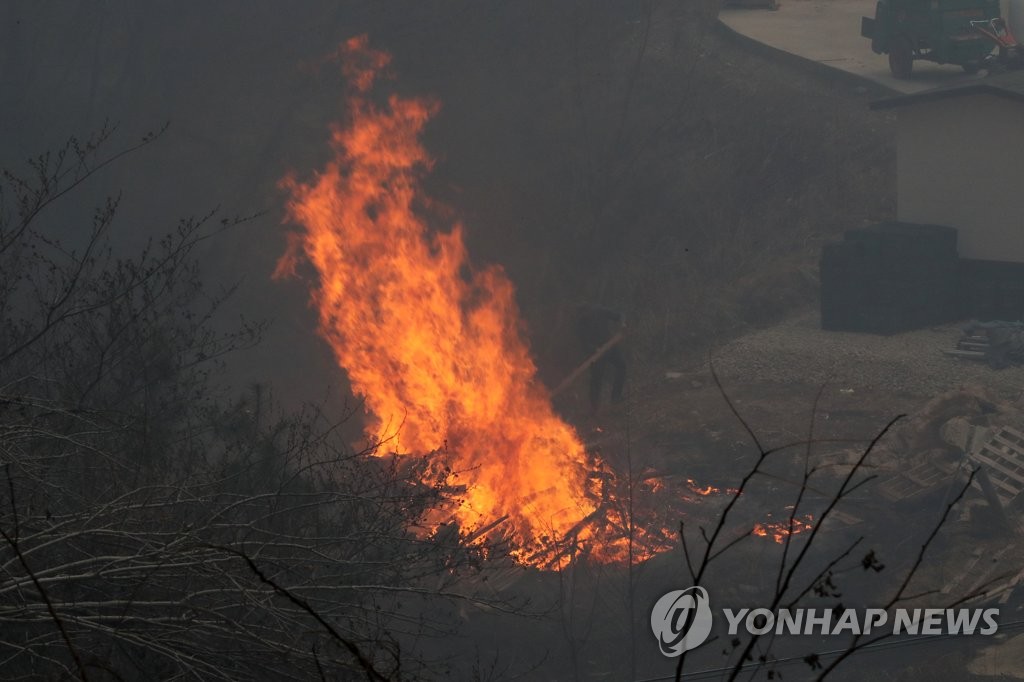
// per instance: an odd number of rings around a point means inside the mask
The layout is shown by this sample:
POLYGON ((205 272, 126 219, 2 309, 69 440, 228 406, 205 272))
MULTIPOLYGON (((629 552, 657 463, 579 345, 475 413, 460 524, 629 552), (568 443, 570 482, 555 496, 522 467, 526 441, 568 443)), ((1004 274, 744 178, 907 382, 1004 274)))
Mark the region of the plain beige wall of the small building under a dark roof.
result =
POLYGON ((965 95, 897 116, 898 218, 956 227, 963 258, 1024 262, 1024 102, 965 95))

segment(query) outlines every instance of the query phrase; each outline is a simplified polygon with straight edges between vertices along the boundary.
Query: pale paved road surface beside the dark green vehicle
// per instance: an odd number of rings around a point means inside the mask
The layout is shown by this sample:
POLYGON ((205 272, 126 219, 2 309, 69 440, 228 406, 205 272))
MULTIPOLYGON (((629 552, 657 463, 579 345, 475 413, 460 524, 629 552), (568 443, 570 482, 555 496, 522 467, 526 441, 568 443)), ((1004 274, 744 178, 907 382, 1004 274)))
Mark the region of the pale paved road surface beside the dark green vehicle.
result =
POLYGON ((719 18, 733 31, 786 52, 869 78, 897 92, 918 92, 966 83, 959 67, 914 61, 909 80, 889 75, 885 54, 860 36, 860 17, 874 14, 874 0, 780 0, 777 11, 723 9, 719 18))

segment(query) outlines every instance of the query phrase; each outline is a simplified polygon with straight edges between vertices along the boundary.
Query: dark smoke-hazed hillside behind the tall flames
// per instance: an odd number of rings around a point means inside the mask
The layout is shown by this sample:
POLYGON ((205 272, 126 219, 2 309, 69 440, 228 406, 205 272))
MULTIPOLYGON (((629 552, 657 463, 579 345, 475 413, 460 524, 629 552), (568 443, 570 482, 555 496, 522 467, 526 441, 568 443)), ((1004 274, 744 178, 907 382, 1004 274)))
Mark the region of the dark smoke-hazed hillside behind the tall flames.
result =
MULTIPOLYGON (((868 95, 744 50, 715 29, 713 3, 303 3, 282 15, 273 2, 111 0, 4 12, 5 58, 32 65, 3 70, 19 131, 5 164, 106 117, 126 138, 170 121, 144 167, 95 187, 124 190, 125 244, 214 206, 268 211, 208 259, 246 280, 245 311, 279 323, 246 376, 267 368, 295 397, 329 359, 295 352, 318 347, 304 294, 268 282, 284 248, 276 182, 322 161, 341 111, 322 57, 357 33, 394 54, 395 88, 441 100, 431 190, 466 223, 474 260, 510 271, 552 380, 573 361, 572 302, 628 311, 639 359, 688 355, 813 301, 819 243, 892 209, 891 131, 868 95)), ((51 215, 69 229, 82 207, 63 208, 51 215)))

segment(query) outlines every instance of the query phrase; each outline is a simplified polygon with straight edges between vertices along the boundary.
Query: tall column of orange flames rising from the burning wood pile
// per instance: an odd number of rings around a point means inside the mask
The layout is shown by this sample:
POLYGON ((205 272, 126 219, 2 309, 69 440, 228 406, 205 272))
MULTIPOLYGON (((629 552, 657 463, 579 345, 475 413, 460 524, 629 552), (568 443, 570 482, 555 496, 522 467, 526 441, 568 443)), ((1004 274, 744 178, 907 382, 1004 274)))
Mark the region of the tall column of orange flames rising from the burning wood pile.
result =
POLYGON ((630 521, 611 504, 613 476, 536 379, 512 283, 499 266, 470 264, 459 224, 428 225, 420 184, 432 161, 419 137, 438 102, 375 103, 388 55, 365 36, 340 52, 353 90, 347 123, 311 180, 284 182, 300 230, 274 275, 300 260, 315 269, 318 331, 365 397, 368 434, 397 454, 445 458, 464 484, 451 510, 464 537, 505 519, 525 562, 559 542, 589 544, 603 560, 636 556, 622 534, 630 521))

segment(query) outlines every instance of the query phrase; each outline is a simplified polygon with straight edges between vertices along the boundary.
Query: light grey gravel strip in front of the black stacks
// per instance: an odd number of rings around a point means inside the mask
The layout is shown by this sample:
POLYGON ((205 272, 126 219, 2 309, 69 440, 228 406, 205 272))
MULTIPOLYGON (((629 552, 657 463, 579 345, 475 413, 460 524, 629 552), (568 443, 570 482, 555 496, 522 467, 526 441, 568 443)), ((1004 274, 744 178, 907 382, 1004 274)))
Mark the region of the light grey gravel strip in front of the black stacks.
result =
POLYGON ((778 383, 829 384, 931 397, 980 384, 1016 400, 1024 367, 992 370, 986 364, 943 354, 965 323, 892 336, 825 332, 818 313, 797 315, 738 338, 714 353, 720 376, 778 383))

